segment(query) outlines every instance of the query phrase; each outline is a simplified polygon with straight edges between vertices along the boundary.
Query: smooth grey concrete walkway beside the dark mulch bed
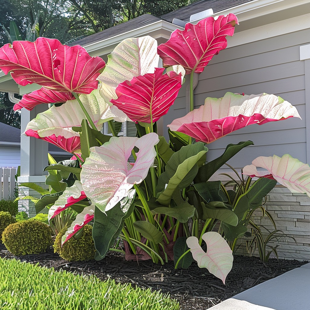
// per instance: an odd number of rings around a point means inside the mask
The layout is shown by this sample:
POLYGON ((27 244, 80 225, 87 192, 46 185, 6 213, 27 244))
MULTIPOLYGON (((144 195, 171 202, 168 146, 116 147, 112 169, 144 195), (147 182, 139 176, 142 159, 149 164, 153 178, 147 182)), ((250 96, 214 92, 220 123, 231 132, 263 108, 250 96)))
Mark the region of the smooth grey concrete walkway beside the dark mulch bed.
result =
POLYGON ((310 263, 245 290, 210 310, 310 310, 310 263))

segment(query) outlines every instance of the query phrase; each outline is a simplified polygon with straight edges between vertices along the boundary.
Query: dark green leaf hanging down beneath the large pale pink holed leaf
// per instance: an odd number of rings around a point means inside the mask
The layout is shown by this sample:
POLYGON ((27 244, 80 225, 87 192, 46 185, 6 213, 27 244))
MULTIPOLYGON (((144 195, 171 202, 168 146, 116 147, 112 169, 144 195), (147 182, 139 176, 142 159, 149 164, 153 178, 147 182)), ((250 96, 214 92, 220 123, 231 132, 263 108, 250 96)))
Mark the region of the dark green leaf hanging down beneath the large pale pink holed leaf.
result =
POLYGON ((135 190, 128 192, 128 197, 124 197, 116 206, 106 211, 104 214, 99 208, 95 207, 93 239, 95 242, 95 259, 103 259, 115 238, 120 234, 125 219, 127 219, 135 208, 133 203, 135 190))

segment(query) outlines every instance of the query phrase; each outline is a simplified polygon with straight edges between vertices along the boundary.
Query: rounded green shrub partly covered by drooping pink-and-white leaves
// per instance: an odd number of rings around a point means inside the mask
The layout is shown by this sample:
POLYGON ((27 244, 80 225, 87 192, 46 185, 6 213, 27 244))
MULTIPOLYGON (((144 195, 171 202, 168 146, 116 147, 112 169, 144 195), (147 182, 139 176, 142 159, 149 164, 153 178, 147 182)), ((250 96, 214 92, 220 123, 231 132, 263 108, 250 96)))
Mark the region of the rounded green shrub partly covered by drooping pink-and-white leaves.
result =
POLYGON ((80 239, 74 239, 74 237, 72 237, 61 247, 61 237, 66 231, 67 228, 64 227, 56 236, 53 245, 54 252, 58 253, 60 257, 69 262, 94 259, 95 244, 91 235, 92 226, 85 225, 80 239))

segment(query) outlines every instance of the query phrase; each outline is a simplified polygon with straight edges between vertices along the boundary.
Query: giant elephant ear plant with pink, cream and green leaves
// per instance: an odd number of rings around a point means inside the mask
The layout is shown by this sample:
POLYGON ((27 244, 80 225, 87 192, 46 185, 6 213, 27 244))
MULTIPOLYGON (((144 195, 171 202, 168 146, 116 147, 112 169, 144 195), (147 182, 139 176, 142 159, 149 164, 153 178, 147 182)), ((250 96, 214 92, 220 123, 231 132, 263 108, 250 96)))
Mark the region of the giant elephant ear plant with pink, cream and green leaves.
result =
POLYGON ((30 121, 25 134, 74 154, 72 164, 54 162, 45 168, 47 184, 54 185, 48 199, 42 197, 48 203, 53 199, 49 218, 68 207, 78 212, 63 243, 78 238, 90 223, 97 260, 111 249, 126 259, 162 264, 174 260, 175 268, 188 268, 195 259, 225 282, 232 249, 247 230, 247 214, 262 204, 276 180, 309 194, 309 166, 289 157, 259 157, 244 169, 259 178, 252 184, 249 177, 237 191, 209 181, 253 142, 229 144, 207 163, 206 144, 248 125, 300 117, 290 103, 265 93, 227 93, 194 109, 194 74, 227 46, 226 36, 233 35, 236 24, 233 14, 207 17, 175 30, 158 47, 149 36, 128 38, 108 56, 107 64, 78 45, 48 38, 0 49, 4 73, 20 85, 42 86, 24 95, 15 109, 56 103, 30 121), (160 58, 164 68, 158 67, 160 58), (157 134, 157 121, 174 103, 188 74, 190 112, 168 125, 167 143, 157 134), (118 137, 125 121, 135 122, 136 137, 118 137), (104 122, 113 137, 101 133, 104 122), (124 251, 113 248, 118 236, 124 251))

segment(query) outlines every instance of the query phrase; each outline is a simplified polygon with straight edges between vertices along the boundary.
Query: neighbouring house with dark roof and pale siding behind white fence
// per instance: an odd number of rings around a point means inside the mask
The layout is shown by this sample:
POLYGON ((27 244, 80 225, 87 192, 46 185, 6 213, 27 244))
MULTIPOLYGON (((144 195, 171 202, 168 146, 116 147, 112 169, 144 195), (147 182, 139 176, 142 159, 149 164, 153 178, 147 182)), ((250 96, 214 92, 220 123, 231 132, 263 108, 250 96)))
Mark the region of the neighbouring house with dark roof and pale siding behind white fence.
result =
MULTIPOLYGON (((20 166, 20 129, 0 122, 0 167, 20 166)), ((53 144, 48 145, 48 152, 57 162, 69 159, 72 154, 53 144)))

